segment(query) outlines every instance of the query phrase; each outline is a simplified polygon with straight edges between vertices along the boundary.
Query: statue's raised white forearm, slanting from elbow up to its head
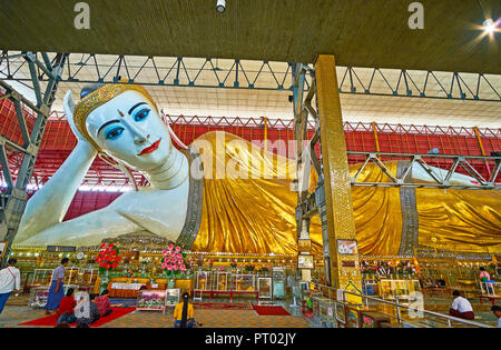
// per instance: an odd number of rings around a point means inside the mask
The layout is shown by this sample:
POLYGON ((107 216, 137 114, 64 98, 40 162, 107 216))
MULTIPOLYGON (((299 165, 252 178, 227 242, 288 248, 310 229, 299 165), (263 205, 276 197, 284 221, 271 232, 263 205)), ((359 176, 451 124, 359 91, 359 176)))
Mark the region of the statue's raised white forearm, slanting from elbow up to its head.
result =
POLYGON ((62 221, 96 154, 90 143, 77 143, 58 171, 28 201, 17 241, 29 239, 62 221))

